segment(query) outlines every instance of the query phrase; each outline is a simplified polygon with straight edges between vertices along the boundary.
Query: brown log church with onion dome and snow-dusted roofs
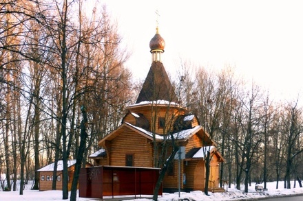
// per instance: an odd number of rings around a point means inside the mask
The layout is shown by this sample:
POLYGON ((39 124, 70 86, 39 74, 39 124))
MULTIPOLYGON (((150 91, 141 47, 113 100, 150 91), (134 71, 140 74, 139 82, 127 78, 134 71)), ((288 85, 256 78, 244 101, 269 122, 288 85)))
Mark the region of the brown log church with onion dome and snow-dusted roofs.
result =
POLYGON ((98 142, 101 150, 90 158, 94 159, 94 165, 161 168, 174 142, 180 147, 180 157, 176 156, 169 165, 163 191, 176 191, 178 187, 182 191, 203 191, 206 154, 211 154, 209 188, 217 188, 219 163, 223 158, 196 115, 178 104, 161 61, 165 40, 158 27, 149 47, 151 67, 136 103, 127 106, 121 126, 98 142))

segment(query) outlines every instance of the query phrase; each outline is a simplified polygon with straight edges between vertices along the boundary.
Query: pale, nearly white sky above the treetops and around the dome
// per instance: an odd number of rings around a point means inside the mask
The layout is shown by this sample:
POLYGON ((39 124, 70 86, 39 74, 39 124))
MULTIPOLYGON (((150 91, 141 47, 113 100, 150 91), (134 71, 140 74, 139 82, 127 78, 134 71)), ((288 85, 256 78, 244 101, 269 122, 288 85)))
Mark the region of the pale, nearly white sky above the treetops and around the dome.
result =
POLYGON ((134 78, 151 66, 149 41, 159 33, 166 46, 163 64, 174 75, 180 59, 222 69, 231 65, 282 99, 303 93, 303 1, 105 0, 118 23, 134 78))

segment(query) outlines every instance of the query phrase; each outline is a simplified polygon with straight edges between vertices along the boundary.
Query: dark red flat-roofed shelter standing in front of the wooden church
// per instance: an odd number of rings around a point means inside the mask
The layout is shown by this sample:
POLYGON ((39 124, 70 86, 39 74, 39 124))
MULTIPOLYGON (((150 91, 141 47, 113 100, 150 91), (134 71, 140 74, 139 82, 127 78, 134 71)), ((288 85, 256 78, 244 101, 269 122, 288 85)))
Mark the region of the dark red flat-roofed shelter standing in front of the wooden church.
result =
MULTIPOLYGON (((160 169, 145 167, 97 166, 82 168, 79 197, 153 195, 160 169)), ((162 196, 162 186, 158 195, 162 196)))

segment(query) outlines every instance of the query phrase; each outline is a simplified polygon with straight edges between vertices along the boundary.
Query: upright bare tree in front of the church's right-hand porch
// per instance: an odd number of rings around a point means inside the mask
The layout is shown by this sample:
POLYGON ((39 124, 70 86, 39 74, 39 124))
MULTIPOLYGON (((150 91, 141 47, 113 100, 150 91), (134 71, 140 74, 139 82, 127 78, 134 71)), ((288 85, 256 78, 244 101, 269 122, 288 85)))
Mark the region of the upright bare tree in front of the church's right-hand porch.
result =
MULTIPOLYGON (((211 140, 219 139, 220 137, 218 137, 218 134, 220 134, 221 130, 220 124, 224 115, 223 108, 231 98, 231 88, 228 85, 230 80, 227 79, 227 72, 222 71, 220 74, 215 75, 208 73, 205 69, 201 68, 197 73, 196 79, 196 87, 198 88, 196 113, 200 124, 205 128, 211 140)), ((207 140, 205 139, 205 142, 206 141, 207 140)), ((211 150, 205 151, 210 153, 211 150)), ((209 182, 211 181, 209 179, 211 171, 211 154, 207 154, 204 161, 206 168, 204 192, 208 195, 209 182)))

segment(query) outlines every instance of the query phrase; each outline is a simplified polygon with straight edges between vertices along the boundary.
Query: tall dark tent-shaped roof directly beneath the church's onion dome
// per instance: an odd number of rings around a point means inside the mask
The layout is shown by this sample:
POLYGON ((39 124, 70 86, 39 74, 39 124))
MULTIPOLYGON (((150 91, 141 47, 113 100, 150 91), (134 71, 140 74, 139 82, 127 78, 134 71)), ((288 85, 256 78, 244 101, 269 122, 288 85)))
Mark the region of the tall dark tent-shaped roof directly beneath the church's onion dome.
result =
POLYGON ((162 62, 153 62, 138 95, 136 104, 143 101, 166 100, 178 102, 174 88, 171 86, 168 75, 162 62))

